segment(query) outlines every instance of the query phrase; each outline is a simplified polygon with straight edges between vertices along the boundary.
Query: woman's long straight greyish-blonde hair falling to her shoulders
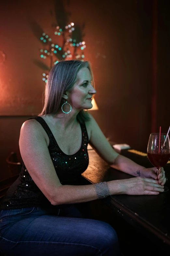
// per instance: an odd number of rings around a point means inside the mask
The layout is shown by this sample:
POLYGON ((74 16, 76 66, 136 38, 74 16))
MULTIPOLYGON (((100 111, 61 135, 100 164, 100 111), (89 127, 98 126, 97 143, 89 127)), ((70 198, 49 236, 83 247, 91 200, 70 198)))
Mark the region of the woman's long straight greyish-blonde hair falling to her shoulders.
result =
MULTIPOLYGON (((94 87, 92 68, 88 61, 64 60, 59 61, 55 66, 52 67, 45 87, 43 97, 44 107, 41 115, 57 114, 61 106, 65 103, 62 95, 65 91, 71 92, 73 90, 78 71, 85 67, 90 71, 92 85, 94 87)), ((88 111, 79 111, 77 119, 80 123, 89 121, 90 116, 88 111)))

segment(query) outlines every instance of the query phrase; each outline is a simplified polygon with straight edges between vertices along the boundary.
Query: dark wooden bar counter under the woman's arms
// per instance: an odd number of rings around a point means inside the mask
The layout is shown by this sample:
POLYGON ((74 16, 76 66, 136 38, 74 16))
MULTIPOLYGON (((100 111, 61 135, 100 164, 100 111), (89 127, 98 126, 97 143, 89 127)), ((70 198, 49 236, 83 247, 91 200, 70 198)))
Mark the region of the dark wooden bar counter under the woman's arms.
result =
MULTIPOLYGON (((89 166, 82 177, 89 183, 133 177, 111 168, 93 149, 88 152, 89 166)), ((147 157, 127 150, 121 154, 146 168, 152 166, 147 157)), ((170 180, 168 164, 164 170, 170 180)), ((170 188, 168 181, 166 185, 170 188)), ((170 190, 156 196, 113 195, 90 205, 95 217, 117 231, 123 255, 170 255, 170 190)))

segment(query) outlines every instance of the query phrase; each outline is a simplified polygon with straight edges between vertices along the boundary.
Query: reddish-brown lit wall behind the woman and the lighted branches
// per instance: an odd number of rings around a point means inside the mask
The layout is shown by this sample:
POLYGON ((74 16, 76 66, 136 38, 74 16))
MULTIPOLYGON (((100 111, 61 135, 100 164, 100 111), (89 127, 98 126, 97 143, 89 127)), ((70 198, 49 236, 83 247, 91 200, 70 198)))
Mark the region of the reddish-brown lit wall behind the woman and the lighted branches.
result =
POLYGON ((7 155, 19 156, 21 125, 42 109, 45 84, 35 65, 41 43, 31 24, 53 34, 54 6, 69 23, 85 24, 85 60, 92 64, 99 108, 91 113, 105 136, 146 152, 150 133, 170 125, 168 0, 1 1, 0 50, 7 57, 0 65, 1 179, 10 176, 7 155))

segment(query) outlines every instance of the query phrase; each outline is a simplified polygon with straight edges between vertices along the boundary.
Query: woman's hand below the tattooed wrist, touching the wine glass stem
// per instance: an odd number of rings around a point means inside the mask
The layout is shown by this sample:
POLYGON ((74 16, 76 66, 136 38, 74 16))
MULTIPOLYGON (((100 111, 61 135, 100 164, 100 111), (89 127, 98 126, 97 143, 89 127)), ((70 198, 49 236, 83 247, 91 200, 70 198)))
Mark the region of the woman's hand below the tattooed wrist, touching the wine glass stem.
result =
POLYGON ((158 180, 158 184, 161 184, 162 186, 166 182, 165 171, 163 170, 163 167, 160 168, 160 171, 158 174, 157 174, 156 167, 144 169, 140 171, 140 173, 142 178, 152 178, 152 179, 158 180))

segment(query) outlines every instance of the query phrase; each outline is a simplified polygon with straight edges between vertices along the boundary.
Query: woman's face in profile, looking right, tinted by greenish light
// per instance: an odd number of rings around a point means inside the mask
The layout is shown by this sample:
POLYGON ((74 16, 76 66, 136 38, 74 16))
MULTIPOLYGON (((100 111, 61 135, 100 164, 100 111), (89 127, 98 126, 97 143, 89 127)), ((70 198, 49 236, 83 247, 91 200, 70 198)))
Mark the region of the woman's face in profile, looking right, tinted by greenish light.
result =
POLYGON ((68 95, 68 103, 75 109, 91 109, 92 95, 96 93, 93 88, 92 77, 88 68, 81 68, 78 71, 77 80, 73 91, 68 95), (90 99, 89 99, 90 98, 90 99))

